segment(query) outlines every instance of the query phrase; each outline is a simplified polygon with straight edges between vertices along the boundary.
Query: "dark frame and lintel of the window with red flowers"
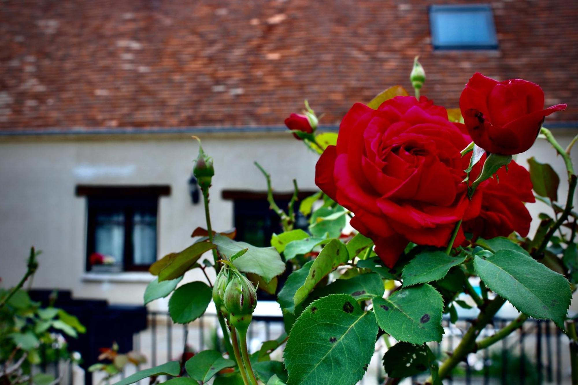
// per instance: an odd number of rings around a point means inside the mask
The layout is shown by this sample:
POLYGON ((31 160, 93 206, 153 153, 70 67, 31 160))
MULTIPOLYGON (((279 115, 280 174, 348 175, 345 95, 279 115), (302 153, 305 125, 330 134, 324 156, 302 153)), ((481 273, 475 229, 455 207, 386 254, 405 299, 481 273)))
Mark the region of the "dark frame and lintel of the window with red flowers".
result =
POLYGON ((155 217, 155 260, 158 253, 158 199, 170 195, 169 186, 76 186, 77 196, 87 197, 86 271, 91 271, 90 256, 95 251, 97 213, 117 209, 124 213, 123 272, 147 271, 150 265, 134 262, 134 212, 143 210, 155 217))

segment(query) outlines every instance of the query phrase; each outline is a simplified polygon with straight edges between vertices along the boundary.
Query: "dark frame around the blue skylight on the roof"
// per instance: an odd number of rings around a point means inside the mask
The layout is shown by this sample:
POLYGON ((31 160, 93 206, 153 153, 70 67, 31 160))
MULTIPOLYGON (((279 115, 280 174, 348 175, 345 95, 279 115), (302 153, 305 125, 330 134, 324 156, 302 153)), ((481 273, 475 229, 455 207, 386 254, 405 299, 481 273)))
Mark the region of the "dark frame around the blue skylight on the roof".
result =
POLYGON ((452 50, 498 50, 498 36, 496 31, 496 24, 494 20, 494 12, 489 4, 479 3, 479 4, 444 4, 444 5, 430 5, 428 6, 429 15, 429 31, 432 38, 432 46, 435 51, 452 51, 452 50), (471 12, 472 10, 477 10, 485 13, 486 23, 488 32, 490 34, 490 39, 485 43, 480 44, 449 44, 442 43, 439 41, 439 36, 437 34, 435 18, 436 12, 471 12))

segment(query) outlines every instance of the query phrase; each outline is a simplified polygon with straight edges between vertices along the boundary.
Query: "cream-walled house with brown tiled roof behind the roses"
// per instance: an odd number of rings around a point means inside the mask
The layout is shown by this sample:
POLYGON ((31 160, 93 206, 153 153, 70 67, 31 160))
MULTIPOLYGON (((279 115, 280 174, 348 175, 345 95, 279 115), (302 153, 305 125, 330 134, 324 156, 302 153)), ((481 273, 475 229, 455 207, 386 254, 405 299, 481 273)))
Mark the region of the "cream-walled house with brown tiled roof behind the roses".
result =
MULTIPOLYGON (((578 132, 578 3, 568 1, 8 0, 0 20, 5 286, 34 245, 35 287, 142 303, 147 265, 205 223, 190 191, 191 135, 214 158, 213 227, 266 240, 253 161, 276 191, 291 191, 293 178, 316 190, 317 155, 284 118, 307 98, 321 129, 335 131, 354 102, 410 89, 415 55, 422 92, 439 105, 457 107, 475 71, 520 77, 543 87, 546 105, 568 103, 544 124, 563 146, 578 132), (116 264, 91 266, 93 251, 116 264)), ((554 151, 539 141, 518 160, 529 156, 554 166, 564 196, 554 151)))

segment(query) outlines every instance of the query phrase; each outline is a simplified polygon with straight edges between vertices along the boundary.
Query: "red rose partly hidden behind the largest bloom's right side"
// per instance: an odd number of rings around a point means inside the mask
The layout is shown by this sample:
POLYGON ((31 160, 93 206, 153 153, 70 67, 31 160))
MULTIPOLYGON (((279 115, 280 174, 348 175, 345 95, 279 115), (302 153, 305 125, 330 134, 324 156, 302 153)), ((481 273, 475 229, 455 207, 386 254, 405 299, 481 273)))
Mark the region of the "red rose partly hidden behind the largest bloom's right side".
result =
MULTIPOLYGON (((472 170, 470 180, 477 177, 484 158, 472 170)), ((462 223, 464 231, 473 233, 473 239, 508 236, 513 231, 528 235, 532 217, 523 202, 535 202, 535 198, 530 174, 523 166, 510 162, 507 169, 498 170, 497 177, 482 182, 476 192, 481 194, 479 216, 462 223)))

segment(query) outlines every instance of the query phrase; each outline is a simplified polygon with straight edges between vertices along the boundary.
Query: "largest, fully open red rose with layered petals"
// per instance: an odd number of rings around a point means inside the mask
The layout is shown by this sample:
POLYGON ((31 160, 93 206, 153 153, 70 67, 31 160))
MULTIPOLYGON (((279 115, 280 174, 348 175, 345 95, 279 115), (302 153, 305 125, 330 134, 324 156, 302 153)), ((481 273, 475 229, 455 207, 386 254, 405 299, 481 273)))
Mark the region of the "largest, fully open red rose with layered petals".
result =
MULTIPOLYGON (((394 266, 409 241, 446 246, 461 219, 479 213, 462 183, 470 156, 465 127, 425 97, 395 97, 373 110, 356 103, 343 118, 336 146, 317 162, 315 182, 355 214, 351 225, 373 239, 394 266)), ((460 231, 454 245, 464 240, 460 231)))

